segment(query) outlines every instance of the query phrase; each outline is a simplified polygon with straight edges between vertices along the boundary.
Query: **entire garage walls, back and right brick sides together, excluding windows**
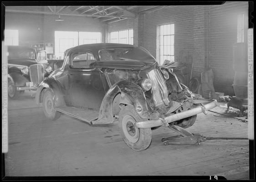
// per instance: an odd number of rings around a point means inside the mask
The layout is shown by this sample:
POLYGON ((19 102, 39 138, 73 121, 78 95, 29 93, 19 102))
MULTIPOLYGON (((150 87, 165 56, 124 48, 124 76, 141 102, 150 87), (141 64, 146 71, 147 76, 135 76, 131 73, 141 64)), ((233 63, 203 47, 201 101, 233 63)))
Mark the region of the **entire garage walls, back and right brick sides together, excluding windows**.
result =
POLYGON ((193 62, 194 77, 212 68, 215 91, 233 96, 235 71, 232 68, 232 51, 237 41, 237 15, 241 13, 248 15, 248 2, 169 6, 109 24, 92 17, 61 15, 64 21, 56 22, 57 15, 6 13, 5 29, 19 30, 20 45, 54 43, 56 30, 102 32, 102 42, 109 42, 111 31, 133 29, 134 45, 145 47, 157 57, 157 27, 174 23, 175 61, 193 62))

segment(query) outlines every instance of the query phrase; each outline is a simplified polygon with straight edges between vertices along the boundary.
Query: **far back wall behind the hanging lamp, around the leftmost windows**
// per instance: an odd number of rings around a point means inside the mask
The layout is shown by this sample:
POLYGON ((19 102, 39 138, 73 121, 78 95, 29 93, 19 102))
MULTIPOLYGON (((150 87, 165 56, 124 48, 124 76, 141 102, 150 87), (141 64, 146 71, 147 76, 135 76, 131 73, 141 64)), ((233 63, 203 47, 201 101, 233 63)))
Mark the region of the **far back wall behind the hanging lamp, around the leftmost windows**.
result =
POLYGON ((64 21, 55 21, 58 15, 6 13, 5 29, 19 30, 19 45, 53 43, 55 31, 101 32, 104 24, 92 17, 61 15, 64 21))

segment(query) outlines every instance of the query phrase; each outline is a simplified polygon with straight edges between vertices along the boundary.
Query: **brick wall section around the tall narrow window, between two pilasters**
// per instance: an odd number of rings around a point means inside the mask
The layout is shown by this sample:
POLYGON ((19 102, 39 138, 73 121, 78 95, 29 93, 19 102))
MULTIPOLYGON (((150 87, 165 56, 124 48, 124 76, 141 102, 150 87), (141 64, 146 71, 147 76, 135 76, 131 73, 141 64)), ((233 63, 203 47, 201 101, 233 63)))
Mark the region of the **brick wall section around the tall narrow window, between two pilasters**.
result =
POLYGON ((145 47, 153 56, 157 57, 157 26, 174 23, 174 56, 175 61, 189 61, 193 59, 193 6, 171 6, 159 11, 141 15, 139 45, 145 47))

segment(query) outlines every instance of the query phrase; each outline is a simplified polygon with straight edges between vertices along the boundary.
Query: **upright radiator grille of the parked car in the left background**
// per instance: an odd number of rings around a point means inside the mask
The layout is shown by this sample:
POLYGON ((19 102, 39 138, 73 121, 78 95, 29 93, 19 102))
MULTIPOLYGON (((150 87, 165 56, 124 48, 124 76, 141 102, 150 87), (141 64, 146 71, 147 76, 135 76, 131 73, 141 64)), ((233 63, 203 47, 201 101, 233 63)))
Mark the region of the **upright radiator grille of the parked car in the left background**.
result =
POLYGON ((38 86, 44 80, 44 69, 40 64, 29 66, 30 80, 38 86))

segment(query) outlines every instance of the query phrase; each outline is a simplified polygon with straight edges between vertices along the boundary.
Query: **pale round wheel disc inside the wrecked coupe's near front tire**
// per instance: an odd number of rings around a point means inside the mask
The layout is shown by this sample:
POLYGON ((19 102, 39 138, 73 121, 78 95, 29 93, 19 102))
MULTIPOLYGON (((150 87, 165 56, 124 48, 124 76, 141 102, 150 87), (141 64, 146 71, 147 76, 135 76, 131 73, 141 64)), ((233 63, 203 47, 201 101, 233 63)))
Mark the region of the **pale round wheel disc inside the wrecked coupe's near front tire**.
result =
POLYGON ((134 126, 135 122, 135 119, 129 115, 124 116, 122 121, 123 133, 132 143, 136 143, 139 137, 139 129, 134 126))

